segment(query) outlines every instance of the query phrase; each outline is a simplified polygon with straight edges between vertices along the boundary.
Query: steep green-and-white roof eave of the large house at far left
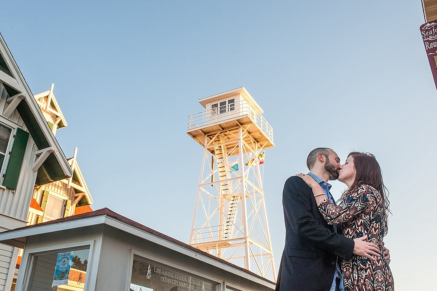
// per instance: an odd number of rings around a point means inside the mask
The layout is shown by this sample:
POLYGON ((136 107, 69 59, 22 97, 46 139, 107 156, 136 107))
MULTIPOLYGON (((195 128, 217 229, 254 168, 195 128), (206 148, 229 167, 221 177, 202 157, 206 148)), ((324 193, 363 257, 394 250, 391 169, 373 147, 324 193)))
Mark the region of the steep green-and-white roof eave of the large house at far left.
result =
POLYGON ((7 74, 0 70, 0 81, 5 85, 8 95, 12 99, 10 105, 15 102, 16 109, 32 139, 35 141, 38 150, 45 150, 43 152, 48 154, 42 165, 38 167, 35 184, 42 185, 70 177, 73 175, 73 172, 68 165, 67 159, 45 121, 41 109, 36 103, 1 34, 0 54, 10 72, 10 74, 7 74))

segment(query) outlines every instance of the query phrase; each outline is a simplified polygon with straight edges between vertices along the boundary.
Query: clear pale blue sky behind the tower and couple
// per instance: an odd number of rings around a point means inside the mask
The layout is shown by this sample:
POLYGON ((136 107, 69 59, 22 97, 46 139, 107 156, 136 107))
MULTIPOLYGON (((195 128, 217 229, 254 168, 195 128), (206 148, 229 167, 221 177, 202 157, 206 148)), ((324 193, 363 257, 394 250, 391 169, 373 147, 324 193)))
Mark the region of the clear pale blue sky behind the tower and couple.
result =
MULTIPOLYGON (((245 86, 276 147, 264 190, 276 267, 281 193, 314 147, 378 158, 393 216, 396 290, 435 287, 437 91, 416 1, 2 1, 0 32, 33 94, 54 93, 56 137, 94 198, 187 242, 202 148, 199 98, 245 86)), ((333 183, 338 197, 344 186, 333 183)))

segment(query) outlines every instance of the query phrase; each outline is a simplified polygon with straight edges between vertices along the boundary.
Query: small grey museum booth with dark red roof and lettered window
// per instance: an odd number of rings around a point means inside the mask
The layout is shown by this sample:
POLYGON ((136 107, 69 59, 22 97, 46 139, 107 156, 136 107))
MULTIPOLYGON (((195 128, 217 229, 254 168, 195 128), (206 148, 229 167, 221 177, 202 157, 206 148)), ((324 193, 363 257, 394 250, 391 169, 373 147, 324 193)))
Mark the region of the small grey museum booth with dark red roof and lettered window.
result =
POLYGON ((61 278, 65 281, 58 291, 272 291, 275 287, 270 280, 107 208, 5 231, 0 242, 24 248, 16 291, 53 290, 52 284, 58 284, 57 262, 68 254, 76 259, 64 271, 70 276, 61 278))

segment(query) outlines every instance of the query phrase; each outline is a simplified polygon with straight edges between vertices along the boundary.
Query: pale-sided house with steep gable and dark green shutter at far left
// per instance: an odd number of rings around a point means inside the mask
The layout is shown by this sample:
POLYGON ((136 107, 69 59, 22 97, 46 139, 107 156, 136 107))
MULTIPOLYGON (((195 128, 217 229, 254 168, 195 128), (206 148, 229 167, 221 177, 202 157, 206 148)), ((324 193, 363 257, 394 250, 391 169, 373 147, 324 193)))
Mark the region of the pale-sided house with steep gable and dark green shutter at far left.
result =
MULTIPOLYGON (((27 224, 34 187, 73 175, 0 35, 0 230, 27 224)), ((0 245, 0 291, 10 290, 18 248, 0 245)))

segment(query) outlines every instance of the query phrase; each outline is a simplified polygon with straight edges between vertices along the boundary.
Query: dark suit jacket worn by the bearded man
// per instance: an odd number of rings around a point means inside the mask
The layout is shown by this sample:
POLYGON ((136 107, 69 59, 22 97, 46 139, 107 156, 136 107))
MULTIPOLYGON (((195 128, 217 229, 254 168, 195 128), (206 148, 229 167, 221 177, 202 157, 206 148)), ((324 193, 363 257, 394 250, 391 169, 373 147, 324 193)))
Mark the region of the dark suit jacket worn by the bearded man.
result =
POLYGON ((329 291, 337 259, 350 259, 354 241, 326 223, 311 188, 301 178, 287 179, 282 205, 285 248, 276 291, 329 291))

